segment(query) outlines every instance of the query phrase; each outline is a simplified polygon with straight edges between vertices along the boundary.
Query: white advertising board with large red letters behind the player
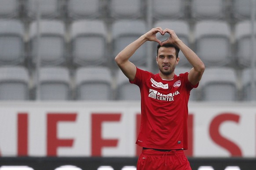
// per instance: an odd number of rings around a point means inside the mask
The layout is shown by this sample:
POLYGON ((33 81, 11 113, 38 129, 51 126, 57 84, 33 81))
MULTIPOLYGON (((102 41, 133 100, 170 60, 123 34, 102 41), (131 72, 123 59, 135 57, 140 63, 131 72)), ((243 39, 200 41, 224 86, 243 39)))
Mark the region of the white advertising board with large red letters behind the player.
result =
MULTIPOLYGON (((139 102, 0 103, 0 156, 138 156, 139 102)), ((193 157, 255 157, 256 103, 190 103, 193 157)))

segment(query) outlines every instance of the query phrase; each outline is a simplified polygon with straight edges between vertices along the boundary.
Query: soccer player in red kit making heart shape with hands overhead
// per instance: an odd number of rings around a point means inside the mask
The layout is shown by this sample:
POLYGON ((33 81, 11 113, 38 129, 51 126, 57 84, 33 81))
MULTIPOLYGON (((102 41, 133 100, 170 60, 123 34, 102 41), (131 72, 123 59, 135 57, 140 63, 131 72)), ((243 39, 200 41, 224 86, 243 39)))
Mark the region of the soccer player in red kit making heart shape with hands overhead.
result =
POLYGON ((117 56, 115 61, 129 81, 138 85, 141 93, 141 126, 136 144, 143 147, 137 170, 191 170, 184 154, 187 147, 187 116, 190 90, 197 88, 205 70, 204 63, 176 33, 166 28, 152 28, 117 56), (169 34, 161 42, 157 33, 169 34), (129 58, 146 41, 155 41, 159 73, 143 71, 129 58), (181 50, 193 68, 176 75, 181 50))

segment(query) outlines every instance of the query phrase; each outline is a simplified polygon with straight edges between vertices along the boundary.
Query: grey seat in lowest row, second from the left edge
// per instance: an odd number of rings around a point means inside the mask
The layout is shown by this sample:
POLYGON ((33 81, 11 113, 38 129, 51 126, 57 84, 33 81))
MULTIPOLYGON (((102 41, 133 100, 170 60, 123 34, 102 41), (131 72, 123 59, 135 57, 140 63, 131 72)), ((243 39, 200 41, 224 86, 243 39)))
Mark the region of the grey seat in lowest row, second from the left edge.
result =
POLYGON ((71 86, 66 67, 41 67, 39 70, 41 100, 69 100, 71 86))

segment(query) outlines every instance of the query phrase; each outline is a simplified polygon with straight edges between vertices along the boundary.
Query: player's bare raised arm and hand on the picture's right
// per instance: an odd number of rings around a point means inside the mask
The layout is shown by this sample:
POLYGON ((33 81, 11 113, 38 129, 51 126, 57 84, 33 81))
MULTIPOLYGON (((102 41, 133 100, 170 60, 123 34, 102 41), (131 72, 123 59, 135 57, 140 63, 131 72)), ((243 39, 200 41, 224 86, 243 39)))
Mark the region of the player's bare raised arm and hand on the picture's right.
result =
POLYGON ((182 51, 184 56, 187 58, 187 60, 190 62, 190 64, 193 66, 193 68, 190 70, 188 74, 188 80, 192 85, 196 85, 200 80, 201 77, 205 71, 205 64, 202 62, 202 60, 197 56, 196 53, 194 53, 193 50, 191 50, 186 44, 184 44, 176 35, 176 33, 173 30, 170 30, 166 28, 163 31, 163 35, 165 33, 170 34, 170 37, 163 42, 165 43, 174 43, 176 46, 179 47, 179 49, 182 51))

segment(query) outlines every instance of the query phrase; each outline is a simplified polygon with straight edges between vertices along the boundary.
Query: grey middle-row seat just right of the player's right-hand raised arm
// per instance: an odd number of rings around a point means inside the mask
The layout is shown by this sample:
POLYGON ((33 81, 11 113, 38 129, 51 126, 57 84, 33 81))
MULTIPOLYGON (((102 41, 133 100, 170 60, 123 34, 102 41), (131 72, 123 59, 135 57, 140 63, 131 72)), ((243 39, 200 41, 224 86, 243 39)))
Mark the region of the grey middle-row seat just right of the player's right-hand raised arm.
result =
POLYGON ((225 21, 197 22, 195 52, 206 66, 226 66, 232 63, 230 35, 230 27, 225 21))

